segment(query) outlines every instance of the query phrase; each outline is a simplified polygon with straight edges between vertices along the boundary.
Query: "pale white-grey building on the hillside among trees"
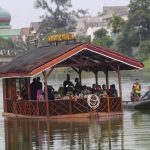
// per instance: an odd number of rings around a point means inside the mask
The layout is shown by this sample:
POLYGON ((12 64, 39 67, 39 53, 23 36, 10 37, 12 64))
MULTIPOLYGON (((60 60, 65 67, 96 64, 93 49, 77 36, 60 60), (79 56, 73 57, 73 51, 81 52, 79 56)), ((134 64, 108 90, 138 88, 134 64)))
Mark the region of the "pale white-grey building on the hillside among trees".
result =
POLYGON ((113 15, 120 16, 124 20, 128 19, 127 6, 110 6, 103 7, 103 12, 99 16, 86 16, 77 20, 76 33, 79 36, 91 36, 91 41, 94 39, 94 32, 104 28, 111 34, 111 29, 108 28, 108 23, 113 15))

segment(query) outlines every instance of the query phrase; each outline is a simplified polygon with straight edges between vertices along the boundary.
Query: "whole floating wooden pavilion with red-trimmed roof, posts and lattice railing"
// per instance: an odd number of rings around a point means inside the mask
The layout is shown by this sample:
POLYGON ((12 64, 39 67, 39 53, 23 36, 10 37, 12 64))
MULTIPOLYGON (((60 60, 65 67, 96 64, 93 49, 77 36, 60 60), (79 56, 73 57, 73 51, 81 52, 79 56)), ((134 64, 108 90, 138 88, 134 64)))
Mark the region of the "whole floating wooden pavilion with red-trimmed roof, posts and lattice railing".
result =
POLYGON ((121 115, 123 106, 120 71, 143 67, 144 65, 134 58, 87 43, 51 44, 35 48, 0 67, 0 78, 3 81, 3 115, 27 118, 90 117, 93 112, 99 116, 121 115), (107 89, 109 73, 114 71, 118 78, 119 96, 101 98, 98 107, 94 110, 88 105, 86 97, 78 97, 75 100, 74 96, 71 96, 68 99, 63 97, 49 100, 48 90, 45 90, 44 100, 30 100, 31 79, 42 74, 43 85, 47 87, 52 71, 61 67, 73 68, 78 73, 81 85, 83 71, 95 74, 96 85, 98 85, 98 72, 102 71, 106 77, 107 89), (26 99, 17 98, 18 91, 22 97, 22 83, 25 84, 26 99))

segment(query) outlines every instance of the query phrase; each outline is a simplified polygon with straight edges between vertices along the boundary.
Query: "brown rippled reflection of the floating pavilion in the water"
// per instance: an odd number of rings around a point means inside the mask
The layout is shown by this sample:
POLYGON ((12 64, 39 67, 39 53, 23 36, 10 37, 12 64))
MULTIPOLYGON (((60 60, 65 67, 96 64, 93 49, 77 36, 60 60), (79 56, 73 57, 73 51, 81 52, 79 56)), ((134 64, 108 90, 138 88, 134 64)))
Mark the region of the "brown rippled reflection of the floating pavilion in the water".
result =
POLYGON ((123 149, 122 119, 5 118, 5 145, 8 150, 123 149))

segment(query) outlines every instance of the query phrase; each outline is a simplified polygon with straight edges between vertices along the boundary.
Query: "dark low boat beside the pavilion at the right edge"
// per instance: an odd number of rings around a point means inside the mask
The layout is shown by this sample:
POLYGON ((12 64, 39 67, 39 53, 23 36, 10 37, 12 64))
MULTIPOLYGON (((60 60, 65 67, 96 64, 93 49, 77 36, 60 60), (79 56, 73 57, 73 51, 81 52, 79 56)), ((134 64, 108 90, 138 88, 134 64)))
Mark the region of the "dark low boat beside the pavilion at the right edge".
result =
POLYGON ((123 106, 125 109, 150 109, 150 99, 138 102, 124 101, 123 106))

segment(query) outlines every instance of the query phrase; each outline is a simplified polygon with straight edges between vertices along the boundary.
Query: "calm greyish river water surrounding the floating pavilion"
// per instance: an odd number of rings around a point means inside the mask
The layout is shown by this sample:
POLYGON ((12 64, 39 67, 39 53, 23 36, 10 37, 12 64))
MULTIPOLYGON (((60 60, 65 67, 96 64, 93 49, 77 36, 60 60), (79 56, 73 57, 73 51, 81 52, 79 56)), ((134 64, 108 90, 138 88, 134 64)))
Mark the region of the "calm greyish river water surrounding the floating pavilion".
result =
MULTIPOLYGON (((59 82, 53 82, 57 87, 59 82)), ((132 79, 122 80, 124 100, 129 100, 132 84, 132 79)), ((149 82, 141 81, 141 85, 144 93, 149 82)), ((2 112, 1 82, 0 91, 2 112)), ((0 150, 150 150, 149 143, 150 111, 125 110, 117 117, 55 121, 0 116, 0 150)))

